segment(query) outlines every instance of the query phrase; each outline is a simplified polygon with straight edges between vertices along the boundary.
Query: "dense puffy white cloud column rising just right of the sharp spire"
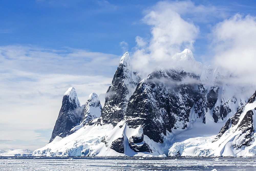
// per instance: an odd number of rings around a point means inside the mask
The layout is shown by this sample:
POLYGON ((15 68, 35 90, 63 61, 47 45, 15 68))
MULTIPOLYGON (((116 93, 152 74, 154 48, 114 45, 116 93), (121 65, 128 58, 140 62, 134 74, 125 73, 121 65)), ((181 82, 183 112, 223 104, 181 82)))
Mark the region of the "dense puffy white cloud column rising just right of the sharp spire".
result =
POLYGON ((148 73, 160 63, 170 62, 177 52, 186 48, 193 50, 199 28, 193 22, 184 20, 175 11, 175 5, 181 4, 191 2, 159 2, 146 11, 143 21, 151 26, 152 36, 149 40, 136 37, 137 46, 133 49, 135 67, 143 67, 148 73))

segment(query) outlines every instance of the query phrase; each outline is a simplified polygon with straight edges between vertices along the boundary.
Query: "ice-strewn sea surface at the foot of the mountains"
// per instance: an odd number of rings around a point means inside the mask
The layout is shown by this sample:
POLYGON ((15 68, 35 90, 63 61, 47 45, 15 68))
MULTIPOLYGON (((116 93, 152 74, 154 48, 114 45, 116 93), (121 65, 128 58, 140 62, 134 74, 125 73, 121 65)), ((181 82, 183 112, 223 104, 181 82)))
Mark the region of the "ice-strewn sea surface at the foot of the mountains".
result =
POLYGON ((252 157, 0 157, 0 170, 256 170, 252 157))

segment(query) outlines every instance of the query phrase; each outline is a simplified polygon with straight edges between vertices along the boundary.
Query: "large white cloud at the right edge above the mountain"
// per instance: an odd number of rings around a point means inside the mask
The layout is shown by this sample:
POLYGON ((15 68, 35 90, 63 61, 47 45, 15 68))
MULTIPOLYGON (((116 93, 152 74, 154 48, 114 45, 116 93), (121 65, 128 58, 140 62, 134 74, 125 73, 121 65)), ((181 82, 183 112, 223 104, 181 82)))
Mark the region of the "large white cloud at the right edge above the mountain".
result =
POLYGON ((236 14, 218 23, 212 36, 215 64, 239 75, 240 81, 256 83, 256 17, 236 14))

